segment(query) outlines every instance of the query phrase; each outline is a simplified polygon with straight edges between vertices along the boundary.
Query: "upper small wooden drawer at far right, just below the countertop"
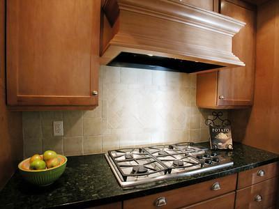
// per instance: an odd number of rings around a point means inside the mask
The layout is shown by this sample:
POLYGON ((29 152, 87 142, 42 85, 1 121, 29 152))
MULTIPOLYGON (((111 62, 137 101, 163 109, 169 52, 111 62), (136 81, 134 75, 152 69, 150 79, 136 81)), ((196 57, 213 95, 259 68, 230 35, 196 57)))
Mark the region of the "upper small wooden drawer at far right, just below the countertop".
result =
POLYGON ((269 178, 278 176, 278 165, 278 162, 274 162, 262 167, 257 167, 255 169, 240 172, 237 189, 242 189, 244 187, 248 187, 269 178))

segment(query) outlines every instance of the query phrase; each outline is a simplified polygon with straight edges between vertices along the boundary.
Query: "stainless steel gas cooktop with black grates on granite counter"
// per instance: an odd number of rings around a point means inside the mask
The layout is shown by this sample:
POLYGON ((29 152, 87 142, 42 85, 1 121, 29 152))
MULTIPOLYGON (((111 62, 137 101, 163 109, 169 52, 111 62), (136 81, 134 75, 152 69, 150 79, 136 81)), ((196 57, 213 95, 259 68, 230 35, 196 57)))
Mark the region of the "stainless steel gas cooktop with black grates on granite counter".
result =
POLYGON ((211 151, 191 142, 110 150, 105 157, 121 187, 190 176, 234 164, 218 150, 211 151))

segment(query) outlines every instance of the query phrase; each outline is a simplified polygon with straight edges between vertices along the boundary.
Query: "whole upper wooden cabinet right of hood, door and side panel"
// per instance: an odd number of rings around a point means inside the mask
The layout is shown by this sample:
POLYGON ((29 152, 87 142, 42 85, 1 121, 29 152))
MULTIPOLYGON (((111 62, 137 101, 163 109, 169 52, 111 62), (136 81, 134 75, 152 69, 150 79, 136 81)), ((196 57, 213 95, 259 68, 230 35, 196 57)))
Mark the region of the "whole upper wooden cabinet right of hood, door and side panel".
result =
POLYGON ((222 15, 246 22, 232 42, 232 52, 246 66, 198 74, 197 106, 213 109, 250 107, 255 80, 255 7, 234 0, 222 0, 219 5, 222 15))

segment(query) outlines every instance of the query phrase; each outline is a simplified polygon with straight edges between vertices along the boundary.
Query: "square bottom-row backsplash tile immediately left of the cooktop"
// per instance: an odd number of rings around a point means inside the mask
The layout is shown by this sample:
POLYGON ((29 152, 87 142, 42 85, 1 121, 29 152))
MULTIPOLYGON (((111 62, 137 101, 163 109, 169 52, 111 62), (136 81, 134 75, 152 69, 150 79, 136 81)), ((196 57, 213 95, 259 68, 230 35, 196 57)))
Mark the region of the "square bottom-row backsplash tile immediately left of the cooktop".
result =
POLYGON ((93 154, 102 152, 102 137, 84 137, 83 139, 84 154, 93 154))

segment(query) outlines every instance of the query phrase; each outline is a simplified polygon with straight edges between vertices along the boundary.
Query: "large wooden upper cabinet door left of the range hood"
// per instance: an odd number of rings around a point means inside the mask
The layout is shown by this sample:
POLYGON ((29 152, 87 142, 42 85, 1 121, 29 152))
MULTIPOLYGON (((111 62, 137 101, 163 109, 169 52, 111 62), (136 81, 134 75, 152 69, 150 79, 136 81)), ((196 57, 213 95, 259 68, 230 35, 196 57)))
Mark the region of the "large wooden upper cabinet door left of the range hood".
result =
POLYGON ((8 105, 98 104, 100 0, 9 0, 6 21, 8 105))

